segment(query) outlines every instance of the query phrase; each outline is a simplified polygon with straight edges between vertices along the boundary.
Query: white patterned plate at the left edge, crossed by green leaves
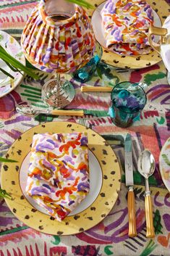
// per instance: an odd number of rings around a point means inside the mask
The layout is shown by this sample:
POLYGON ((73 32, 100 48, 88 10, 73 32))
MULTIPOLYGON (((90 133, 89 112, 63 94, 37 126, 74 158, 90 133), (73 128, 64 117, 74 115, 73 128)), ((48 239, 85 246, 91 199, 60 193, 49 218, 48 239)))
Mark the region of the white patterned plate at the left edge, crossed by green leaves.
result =
MULTIPOLYGON (((25 65, 25 57, 22 52, 20 44, 8 33, 0 30, 0 45, 10 54, 12 57, 20 61, 23 65, 25 65)), ((14 79, 10 78, 7 75, 4 75, 0 71, 0 98, 6 94, 9 94, 10 91, 14 90, 23 78, 23 72, 14 72, 9 66, 0 59, 0 67, 10 73, 14 77, 14 79)))

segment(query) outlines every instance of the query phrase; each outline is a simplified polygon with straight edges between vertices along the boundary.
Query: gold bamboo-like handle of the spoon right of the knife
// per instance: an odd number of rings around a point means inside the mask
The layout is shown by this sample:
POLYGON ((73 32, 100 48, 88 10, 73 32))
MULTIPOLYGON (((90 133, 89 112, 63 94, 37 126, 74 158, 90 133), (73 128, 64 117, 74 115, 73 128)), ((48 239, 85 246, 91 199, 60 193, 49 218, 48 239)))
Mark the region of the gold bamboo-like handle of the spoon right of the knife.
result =
POLYGON ((153 227, 153 206, 150 194, 145 196, 145 216, 146 216, 146 237, 154 238, 155 231, 153 227))

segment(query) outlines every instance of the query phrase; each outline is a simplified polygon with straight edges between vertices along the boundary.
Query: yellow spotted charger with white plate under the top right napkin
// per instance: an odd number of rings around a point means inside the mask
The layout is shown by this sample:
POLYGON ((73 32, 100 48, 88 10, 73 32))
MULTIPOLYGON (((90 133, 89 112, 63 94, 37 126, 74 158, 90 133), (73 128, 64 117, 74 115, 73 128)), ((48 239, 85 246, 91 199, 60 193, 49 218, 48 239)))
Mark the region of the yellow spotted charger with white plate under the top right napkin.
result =
MULTIPOLYGON (((106 1, 92 0, 90 3, 93 4, 96 9, 95 11, 88 9, 87 12, 92 20, 95 38, 103 47, 103 62, 106 62, 107 64, 114 67, 139 69, 143 67, 150 67, 161 61, 161 57, 156 51, 152 51, 150 54, 125 56, 116 54, 109 51, 109 49, 106 49, 106 42, 103 36, 103 24, 100 15, 101 9, 106 1)), ((169 5, 166 3, 166 1, 163 1, 163 4, 161 4, 161 1, 158 0, 154 2, 148 1, 148 4, 150 4, 150 6, 153 8, 154 24, 158 27, 161 27, 161 24, 163 24, 163 21, 169 15, 169 5)), ((158 40, 158 38, 156 39, 158 40)))

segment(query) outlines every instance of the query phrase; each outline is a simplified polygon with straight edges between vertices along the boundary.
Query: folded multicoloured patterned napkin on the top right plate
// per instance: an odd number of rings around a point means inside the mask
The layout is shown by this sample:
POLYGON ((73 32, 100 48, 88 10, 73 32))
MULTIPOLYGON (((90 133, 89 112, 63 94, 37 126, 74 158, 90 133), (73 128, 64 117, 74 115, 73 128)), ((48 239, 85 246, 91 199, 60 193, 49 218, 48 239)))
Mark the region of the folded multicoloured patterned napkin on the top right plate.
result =
POLYGON ((151 51, 148 29, 153 10, 145 1, 109 0, 101 10, 106 46, 117 54, 147 54, 151 51))

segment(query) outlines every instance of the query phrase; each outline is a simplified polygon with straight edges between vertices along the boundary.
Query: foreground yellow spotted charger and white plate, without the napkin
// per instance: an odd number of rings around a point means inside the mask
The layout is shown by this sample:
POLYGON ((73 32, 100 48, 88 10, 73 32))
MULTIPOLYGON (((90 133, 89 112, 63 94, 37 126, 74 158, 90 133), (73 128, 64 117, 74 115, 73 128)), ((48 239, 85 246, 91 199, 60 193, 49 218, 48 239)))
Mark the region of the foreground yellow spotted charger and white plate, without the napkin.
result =
POLYGON ((121 172, 111 146, 90 128, 68 122, 51 122, 35 126, 22 134, 7 152, 16 163, 1 168, 1 188, 12 195, 6 199, 9 209, 25 225, 53 235, 71 235, 88 230, 109 214, 114 207, 121 185, 121 172), (90 194, 61 222, 47 215, 25 194, 30 149, 35 133, 88 133, 90 163, 90 194))

